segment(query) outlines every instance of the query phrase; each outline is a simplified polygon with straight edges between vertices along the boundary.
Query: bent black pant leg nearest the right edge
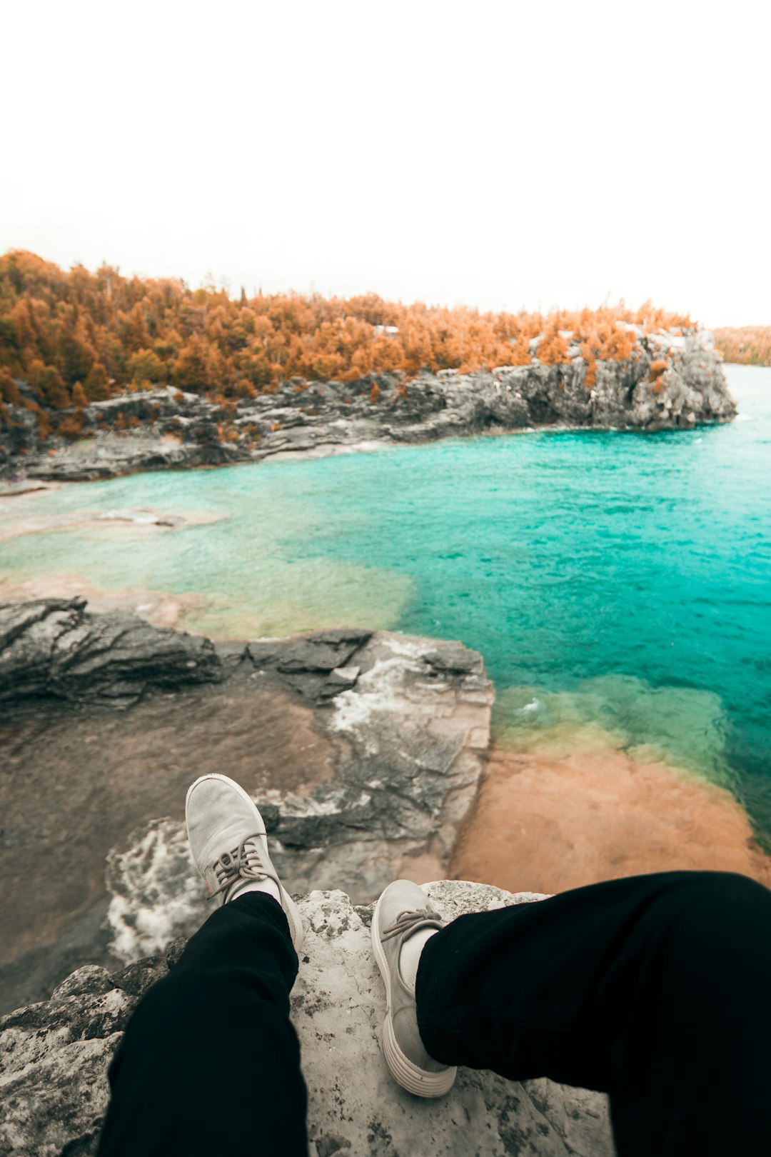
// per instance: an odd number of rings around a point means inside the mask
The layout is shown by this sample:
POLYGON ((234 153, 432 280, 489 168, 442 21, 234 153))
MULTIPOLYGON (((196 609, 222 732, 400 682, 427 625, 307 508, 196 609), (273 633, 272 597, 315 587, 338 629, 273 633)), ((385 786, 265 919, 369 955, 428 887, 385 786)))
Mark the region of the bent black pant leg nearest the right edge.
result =
POLYGON ((461 916, 427 944, 429 1053, 610 1095, 621 1157, 768 1151, 771 892, 662 872, 461 916))

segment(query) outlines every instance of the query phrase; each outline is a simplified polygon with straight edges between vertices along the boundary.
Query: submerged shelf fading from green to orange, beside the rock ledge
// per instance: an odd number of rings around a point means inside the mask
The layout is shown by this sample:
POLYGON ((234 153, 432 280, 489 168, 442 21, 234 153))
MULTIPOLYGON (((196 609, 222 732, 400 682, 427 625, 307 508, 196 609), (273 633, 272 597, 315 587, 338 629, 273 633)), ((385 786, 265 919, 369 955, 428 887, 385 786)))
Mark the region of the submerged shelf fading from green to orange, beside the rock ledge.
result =
POLYGON ((720 715, 709 692, 623 677, 574 693, 509 688, 453 875, 559 892, 699 869, 771 886, 771 858, 728 790, 720 715))

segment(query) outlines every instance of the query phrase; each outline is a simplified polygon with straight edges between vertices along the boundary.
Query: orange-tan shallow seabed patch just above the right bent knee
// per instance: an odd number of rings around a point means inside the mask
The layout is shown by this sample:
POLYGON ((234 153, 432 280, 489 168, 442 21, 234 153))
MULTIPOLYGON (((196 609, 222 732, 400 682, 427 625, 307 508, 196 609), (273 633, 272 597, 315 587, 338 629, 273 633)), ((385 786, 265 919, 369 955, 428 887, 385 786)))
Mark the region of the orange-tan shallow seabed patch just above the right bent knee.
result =
POLYGON ((452 863, 458 879, 548 893, 674 869, 743 872, 771 887, 771 858, 728 791, 578 737, 571 752, 494 745, 452 863))

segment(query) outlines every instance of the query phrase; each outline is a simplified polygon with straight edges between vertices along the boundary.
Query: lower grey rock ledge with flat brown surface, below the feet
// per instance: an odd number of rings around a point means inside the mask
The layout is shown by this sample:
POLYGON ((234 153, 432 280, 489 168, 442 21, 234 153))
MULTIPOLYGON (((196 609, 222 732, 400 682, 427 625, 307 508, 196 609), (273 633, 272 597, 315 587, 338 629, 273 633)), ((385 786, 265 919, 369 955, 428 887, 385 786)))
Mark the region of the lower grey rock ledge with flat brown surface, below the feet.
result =
POLYGON ((24 768, 0 784, 0 870, 16 882, 6 946, 22 929, 31 936, 30 898, 50 918, 36 920, 40 949, 24 958, 31 987, 24 959, 5 979, 0 970, 0 990, 7 982, 20 1002, 50 990, 75 948, 77 963, 129 961, 198 926, 206 909, 180 823, 185 788, 223 769, 254 784, 266 742, 279 764, 255 798, 292 890, 342 887, 368 901, 394 877, 446 875, 483 774, 492 687, 481 657, 453 642, 339 629, 213 643, 47 599, 0 606, 0 702, 7 766, 24 768), (265 714, 283 731, 299 727, 297 738, 270 747, 265 714), (175 721, 171 734, 158 716, 175 721), (195 736, 181 757, 175 727, 195 736), (52 759, 68 784, 60 806, 49 798, 52 759), (281 760, 299 767, 283 787, 281 760), (148 810, 144 796, 163 802, 148 810), (170 812, 179 818, 150 819, 170 812), (99 898, 108 930, 81 927, 79 913, 99 898))

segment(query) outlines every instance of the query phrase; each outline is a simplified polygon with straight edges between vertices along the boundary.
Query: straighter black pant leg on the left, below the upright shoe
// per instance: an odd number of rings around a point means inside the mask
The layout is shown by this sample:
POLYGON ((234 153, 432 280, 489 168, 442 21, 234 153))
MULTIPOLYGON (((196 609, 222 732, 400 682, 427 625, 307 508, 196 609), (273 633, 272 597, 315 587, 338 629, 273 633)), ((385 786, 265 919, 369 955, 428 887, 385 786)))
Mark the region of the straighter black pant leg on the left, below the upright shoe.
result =
POLYGON ((306 1091, 289 1022, 297 956, 281 906, 217 908, 140 1001, 110 1067, 99 1157, 305 1157, 306 1091))

